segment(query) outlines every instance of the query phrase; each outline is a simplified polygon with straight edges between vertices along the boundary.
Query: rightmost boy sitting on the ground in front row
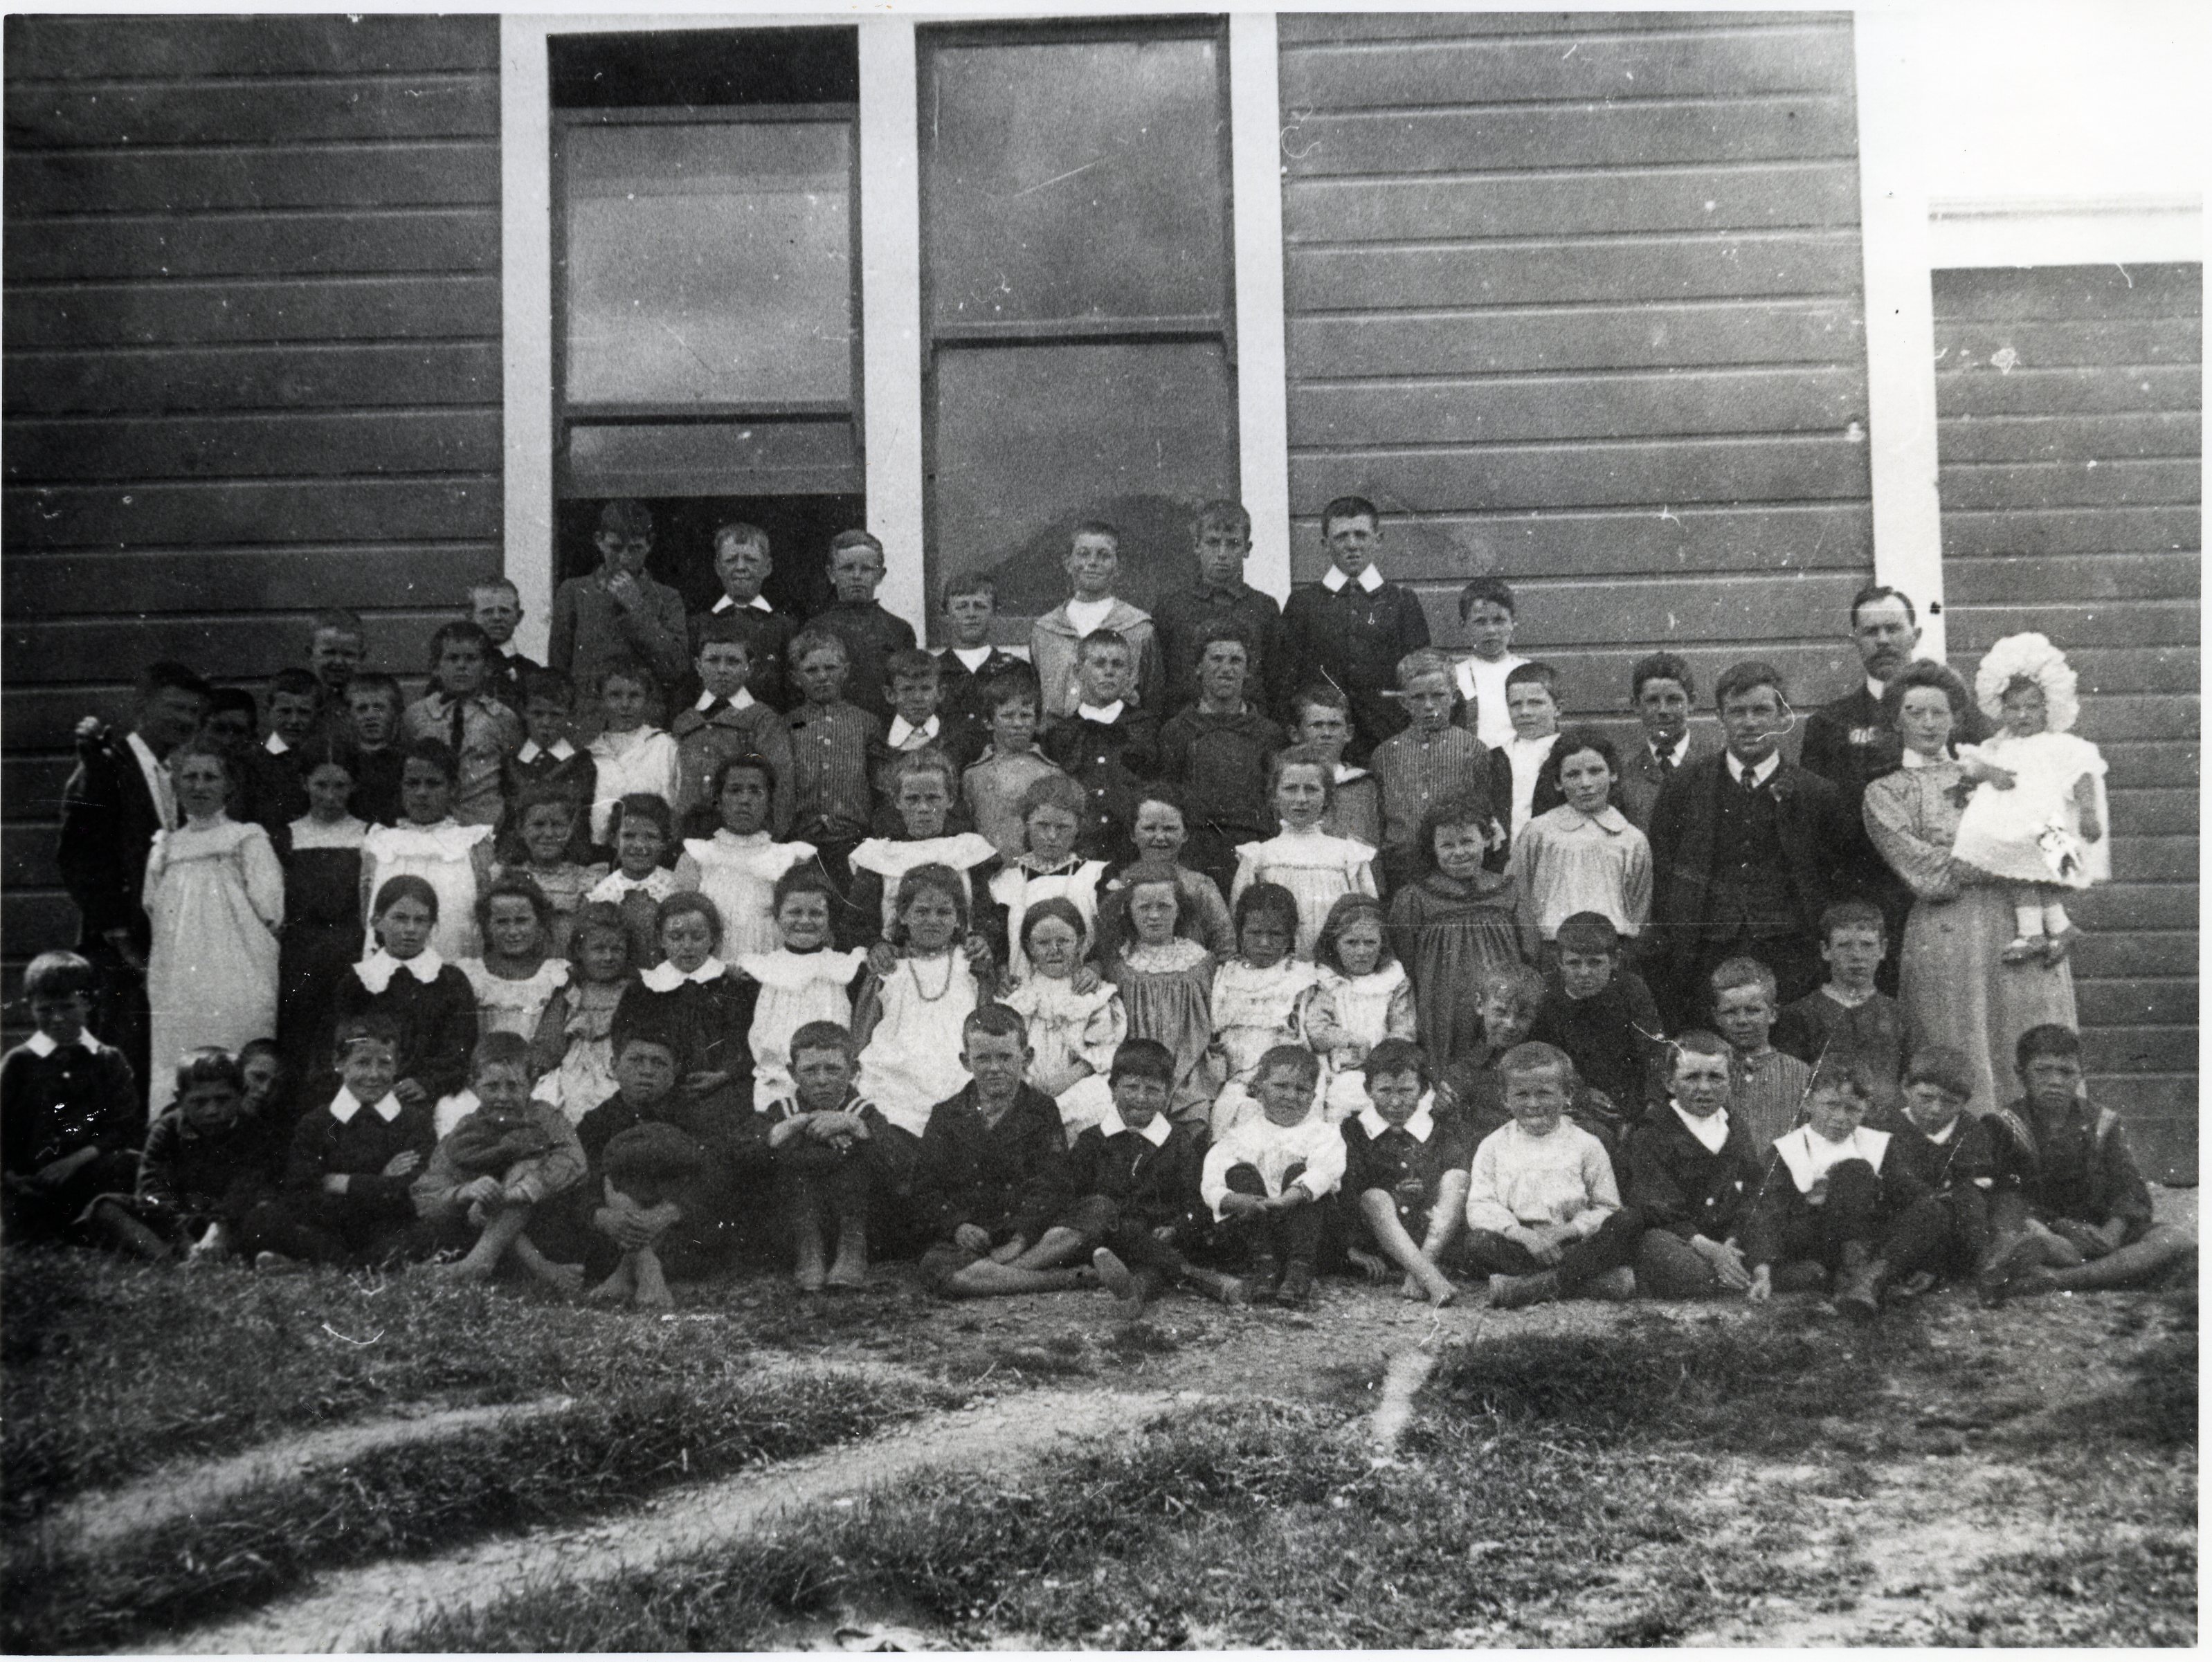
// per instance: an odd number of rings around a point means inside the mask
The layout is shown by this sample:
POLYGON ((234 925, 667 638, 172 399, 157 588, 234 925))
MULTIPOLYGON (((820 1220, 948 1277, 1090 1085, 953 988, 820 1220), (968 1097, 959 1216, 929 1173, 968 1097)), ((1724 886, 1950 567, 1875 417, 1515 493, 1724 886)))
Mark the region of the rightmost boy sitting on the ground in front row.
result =
POLYGON ((1991 1118, 2020 1187, 1991 1202, 1997 1249, 1982 1297, 2194 1280, 2197 1235, 2152 1222, 2126 1127, 2081 1094, 2079 1034, 2057 1023, 2028 1028, 2013 1059, 2026 1094, 1991 1118))

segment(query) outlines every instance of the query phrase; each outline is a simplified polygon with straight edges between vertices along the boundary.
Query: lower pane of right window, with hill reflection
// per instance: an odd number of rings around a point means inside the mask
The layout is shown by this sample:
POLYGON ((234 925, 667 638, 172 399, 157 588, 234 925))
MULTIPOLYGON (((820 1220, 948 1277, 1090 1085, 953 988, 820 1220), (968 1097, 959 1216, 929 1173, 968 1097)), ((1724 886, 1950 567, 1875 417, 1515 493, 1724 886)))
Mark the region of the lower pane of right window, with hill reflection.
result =
POLYGON ((1048 612, 1068 597, 1068 533, 1097 517, 1121 530, 1130 603, 1197 577, 1190 513, 1237 495, 1219 345, 947 347, 936 382, 933 575, 982 568, 1002 612, 1048 612))

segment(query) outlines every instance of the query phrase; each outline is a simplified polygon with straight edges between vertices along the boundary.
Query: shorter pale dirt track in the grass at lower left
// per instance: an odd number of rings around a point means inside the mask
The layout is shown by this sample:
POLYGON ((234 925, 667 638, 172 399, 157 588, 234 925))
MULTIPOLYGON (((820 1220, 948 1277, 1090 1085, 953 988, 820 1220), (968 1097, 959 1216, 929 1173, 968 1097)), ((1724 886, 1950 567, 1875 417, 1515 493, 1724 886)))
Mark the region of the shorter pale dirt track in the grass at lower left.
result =
POLYGON ((82 1494, 58 1507, 42 1527, 55 1547, 64 1551, 91 1551, 122 1536, 159 1529, 195 1512, 221 1507, 234 1494, 257 1483, 296 1479, 319 1468, 358 1461, 363 1454, 380 1448, 467 1437, 487 1426, 557 1414, 573 1406, 573 1397, 540 1397, 526 1403, 442 1408, 425 1414, 372 1419, 358 1426, 332 1426, 321 1432, 283 1437, 219 1461, 166 1465, 119 1490, 82 1494))

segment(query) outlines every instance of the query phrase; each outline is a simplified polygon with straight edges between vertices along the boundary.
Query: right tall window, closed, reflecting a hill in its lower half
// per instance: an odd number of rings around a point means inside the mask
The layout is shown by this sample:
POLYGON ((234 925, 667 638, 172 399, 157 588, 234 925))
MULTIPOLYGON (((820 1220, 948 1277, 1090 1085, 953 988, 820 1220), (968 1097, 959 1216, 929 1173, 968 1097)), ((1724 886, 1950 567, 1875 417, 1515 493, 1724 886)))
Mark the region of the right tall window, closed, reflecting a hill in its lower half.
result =
POLYGON ((1223 22, 927 29, 920 75, 931 579, 1026 639, 1104 517, 1144 606, 1237 493, 1223 22))

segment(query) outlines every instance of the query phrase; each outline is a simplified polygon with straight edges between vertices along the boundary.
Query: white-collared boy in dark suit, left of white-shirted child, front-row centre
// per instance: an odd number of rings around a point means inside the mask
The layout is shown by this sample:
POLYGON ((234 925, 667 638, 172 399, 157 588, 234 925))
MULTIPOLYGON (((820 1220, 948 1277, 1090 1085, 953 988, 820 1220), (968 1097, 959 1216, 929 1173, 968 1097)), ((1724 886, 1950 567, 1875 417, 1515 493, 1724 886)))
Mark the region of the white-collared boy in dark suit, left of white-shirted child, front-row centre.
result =
POLYGON ((1060 1222, 1093 1242, 1091 1266, 1126 1317, 1175 1282, 1243 1304, 1243 1282, 1183 1258, 1206 1233, 1206 1127, 1168 1118, 1175 1054, 1157 1039, 1128 1039, 1108 1081, 1113 1107, 1068 1154, 1075 1207, 1060 1222))

